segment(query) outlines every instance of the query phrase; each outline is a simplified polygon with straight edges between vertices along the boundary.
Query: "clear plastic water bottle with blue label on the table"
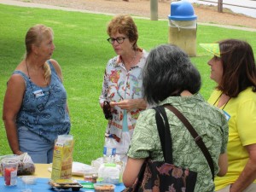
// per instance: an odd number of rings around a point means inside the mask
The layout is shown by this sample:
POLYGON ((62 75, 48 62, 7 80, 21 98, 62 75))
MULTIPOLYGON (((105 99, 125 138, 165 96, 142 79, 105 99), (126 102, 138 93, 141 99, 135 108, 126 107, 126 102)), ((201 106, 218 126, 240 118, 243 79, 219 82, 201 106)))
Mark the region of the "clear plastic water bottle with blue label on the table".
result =
POLYGON ((105 134, 105 145, 103 150, 103 162, 114 162, 116 154, 116 141, 112 134, 105 134))

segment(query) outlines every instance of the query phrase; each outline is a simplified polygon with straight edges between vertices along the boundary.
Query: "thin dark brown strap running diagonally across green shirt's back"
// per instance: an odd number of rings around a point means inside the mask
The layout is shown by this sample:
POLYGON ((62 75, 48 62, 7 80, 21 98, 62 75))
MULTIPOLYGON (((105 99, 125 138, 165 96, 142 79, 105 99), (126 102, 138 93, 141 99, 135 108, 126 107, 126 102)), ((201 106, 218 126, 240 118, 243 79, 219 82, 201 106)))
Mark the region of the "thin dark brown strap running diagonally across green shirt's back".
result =
POLYGON ((213 166, 213 160, 212 160, 212 156, 209 153, 205 143, 203 142, 201 136, 199 136, 197 134, 197 132, 195 131, 194 127, 189 123, 189 120, 186 119, 183 115, 183 113, 180 113, 177 108, 174 108, 171 104, 166 104, 164 105, 165 108, 168 108, 170 111, 172 111, 172 113, 174 113, 178 119, 180 119, 183 124, 187 127, 188 131, 190 132, 190 134, 192 135, 192 137, 194 137, 195 139, 195 143, 198 145, 199 148, 201 148, 202 153, 205 155, 208 165, 211 168, 211 172, 212 172, 212 180, 214 180, 214 166, 213 166))

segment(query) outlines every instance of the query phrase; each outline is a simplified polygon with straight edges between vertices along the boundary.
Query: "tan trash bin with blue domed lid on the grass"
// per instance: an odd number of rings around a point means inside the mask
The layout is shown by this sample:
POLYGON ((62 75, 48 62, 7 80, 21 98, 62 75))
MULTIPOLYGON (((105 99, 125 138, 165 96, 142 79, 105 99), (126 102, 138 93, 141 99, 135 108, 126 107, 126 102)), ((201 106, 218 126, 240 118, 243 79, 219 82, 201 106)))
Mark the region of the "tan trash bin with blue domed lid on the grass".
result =
POLYGON ((196 19, 194 8, 187 1, 171 3, 169 44, 176 44, 189 56, 196 56, 196 19))

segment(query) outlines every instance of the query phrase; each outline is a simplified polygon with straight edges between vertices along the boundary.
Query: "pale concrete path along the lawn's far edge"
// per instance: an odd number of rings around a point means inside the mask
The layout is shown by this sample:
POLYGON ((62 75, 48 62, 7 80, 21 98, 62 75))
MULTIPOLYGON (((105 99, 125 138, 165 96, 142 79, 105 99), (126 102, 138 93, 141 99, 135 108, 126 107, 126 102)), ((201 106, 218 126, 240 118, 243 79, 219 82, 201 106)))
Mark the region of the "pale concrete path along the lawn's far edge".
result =
MULTIPOLYGON (((90 14, 113 15, 113 14, 108 14, 108 13, 90 11, 90 10, 86 10, 86 9, 72 9, 72 8, 58 7, 58 6, 54 6, 54 5, 41 4, 41 3, 26 3, 26 2, 20 2, 20 1, 15 1, 15 0, 0 0, 0 3, 7 4, 7 5, 20 6, 20 7, 27 7, 27 8, 57 9, 57 10, 82 12, 82 13, 90 13, 90 14)), ((137 18, 143 18, 143 19, 149 20, 149 18, 145 18, 145 17, 137 17, 137 18)), ((229 29, 237 29, 237 30, 243 30, 243 31, 248 31, 248 32, 256 32, 256 29, 254 29, 254 28, 247 28, 247 27, 242 27, 242 26, 224 26, 224 25, 201 23, 201 22, 198 22, 198 25, 218 26, 218 27, 229 28, 229 29)))

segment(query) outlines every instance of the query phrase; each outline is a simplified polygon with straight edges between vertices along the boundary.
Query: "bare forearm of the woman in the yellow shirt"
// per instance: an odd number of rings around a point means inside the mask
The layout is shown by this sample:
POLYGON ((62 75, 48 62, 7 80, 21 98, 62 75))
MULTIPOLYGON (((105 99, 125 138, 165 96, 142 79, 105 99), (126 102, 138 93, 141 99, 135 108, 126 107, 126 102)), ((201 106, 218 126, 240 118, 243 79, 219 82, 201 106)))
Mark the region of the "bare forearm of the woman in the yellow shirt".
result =
POLYGON ((236 182, 232 184, 230 192, 243 191, 248 185, 253 183, 256 178, 256 144, 245 147, 249 154, 247 165, 244 167, 236 182))

